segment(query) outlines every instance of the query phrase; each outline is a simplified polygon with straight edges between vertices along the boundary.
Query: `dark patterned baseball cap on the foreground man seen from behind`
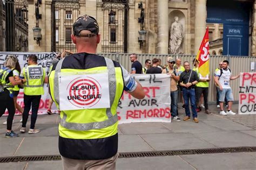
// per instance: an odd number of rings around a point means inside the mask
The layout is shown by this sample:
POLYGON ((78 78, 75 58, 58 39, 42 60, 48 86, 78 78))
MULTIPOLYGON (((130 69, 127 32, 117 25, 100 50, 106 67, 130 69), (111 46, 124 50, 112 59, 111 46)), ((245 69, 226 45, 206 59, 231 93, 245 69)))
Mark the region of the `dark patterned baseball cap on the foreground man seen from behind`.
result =
POLYGON ((84 15, 82 17, 77 18, 76 22, 73 24, 73 35, 79 37, 93 37, 98 35, 99 33, 99 25, 95 18, 84 15), (80 31, 89 30, 91 33, 87 33, 85 35, 80 35, 80 31))

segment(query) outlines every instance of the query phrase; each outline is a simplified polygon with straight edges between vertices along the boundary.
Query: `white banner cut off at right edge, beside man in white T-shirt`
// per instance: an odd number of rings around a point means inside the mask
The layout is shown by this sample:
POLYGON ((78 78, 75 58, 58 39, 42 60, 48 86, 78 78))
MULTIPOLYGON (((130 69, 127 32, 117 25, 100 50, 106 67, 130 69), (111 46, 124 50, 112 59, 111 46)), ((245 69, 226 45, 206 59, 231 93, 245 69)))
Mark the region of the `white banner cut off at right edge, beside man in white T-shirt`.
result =
POLYGON ((239 114, 256 114, 256 73, 240 73, 239 114))

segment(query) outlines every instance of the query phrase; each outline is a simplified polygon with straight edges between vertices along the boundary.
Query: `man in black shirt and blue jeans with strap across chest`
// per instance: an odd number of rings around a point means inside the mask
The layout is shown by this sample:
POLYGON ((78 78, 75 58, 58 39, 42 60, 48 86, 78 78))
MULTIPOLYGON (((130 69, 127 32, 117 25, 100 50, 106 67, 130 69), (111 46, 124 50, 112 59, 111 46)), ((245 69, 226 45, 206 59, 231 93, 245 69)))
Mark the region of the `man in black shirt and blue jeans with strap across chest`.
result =
POLYGON ((190 63, 184 62, 185 71, 180 75, 180 86, 183 86, 183 98, 185 102, 185 112, 186 116, 183 119, 184 121, 190 120, 190 108, 188 106, 189 100, 191 103, 191 110, 193 113, 193 120, 194 123, 198 123, 199 120, 197 118, 197 111, 196 111, 196 92, 195 87, 198 83, 199 79, 197 76, 196 71, 190 69, 190 63))

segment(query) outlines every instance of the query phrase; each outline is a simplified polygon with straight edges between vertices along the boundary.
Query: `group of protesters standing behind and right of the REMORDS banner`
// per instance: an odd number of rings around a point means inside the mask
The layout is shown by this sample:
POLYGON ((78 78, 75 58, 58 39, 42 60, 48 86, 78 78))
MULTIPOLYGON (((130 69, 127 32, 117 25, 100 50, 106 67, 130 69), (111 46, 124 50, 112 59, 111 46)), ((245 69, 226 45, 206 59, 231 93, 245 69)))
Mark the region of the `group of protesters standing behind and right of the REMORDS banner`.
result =
MULTIPOLYGON (((131 73, 136 74, 170 74, 171 77, 171 114, 172 119, 180 121, 178 117, 178 94, 181 94, 181 101, 183 102, 183 108, 185 109, 184 121, 190 120, 190 109, 189 101, 191 104, 192 117, 195 123, 199 122, 197 113, 205 109, 206 114, 212 114, 208 108, 208 89, 209 82, 211 81, 211 74, 208 73, 206 78, 200 77, 199 73, 199 61, 193 59, 193 69, 190 67, 190 63, 185 61, 183 66, 181 65, 181 59, 172 57, 167 58, 167 65, 161 65, 161 59, 153 58, 145 60, 145 66, 138 61, 138 56, 133 53, 130 55, 130 60, 132 62, 131 73)), ((230 87, 230 80, 239 78, 237 76, 232 76, 231 70, 228 67, 228 61, 224 60, 219 63, 217 69, 213 73, 214 83, 217 89, 217 107, 220 108, 221 115, 235 113, 232 112, 233 103, 233 93, 230 87), (224 103, 227 107, 227 111, 224 111, 224 103)))

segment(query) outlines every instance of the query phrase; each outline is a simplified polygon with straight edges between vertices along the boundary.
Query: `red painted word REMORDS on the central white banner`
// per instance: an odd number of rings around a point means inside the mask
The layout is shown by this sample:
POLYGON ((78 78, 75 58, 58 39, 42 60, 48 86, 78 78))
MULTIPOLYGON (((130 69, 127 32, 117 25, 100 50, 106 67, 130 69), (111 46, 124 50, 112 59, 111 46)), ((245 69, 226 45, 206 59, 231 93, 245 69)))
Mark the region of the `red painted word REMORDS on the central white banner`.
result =
POLYGON ((170 108, 154 108, 150 110, 129 110, 126 111, 126 119, 140 118, 170 118, 170 108))

